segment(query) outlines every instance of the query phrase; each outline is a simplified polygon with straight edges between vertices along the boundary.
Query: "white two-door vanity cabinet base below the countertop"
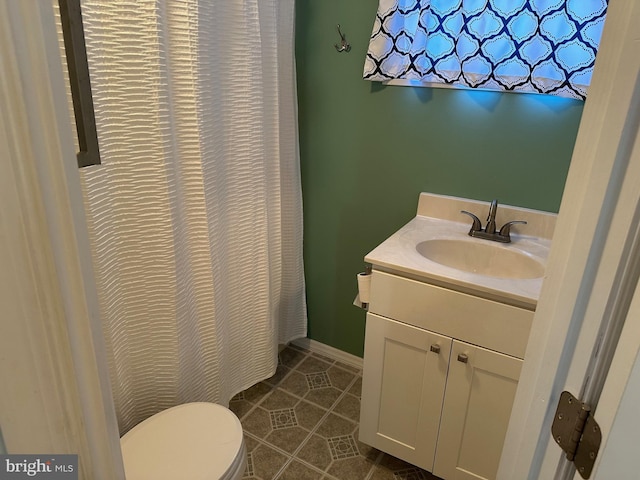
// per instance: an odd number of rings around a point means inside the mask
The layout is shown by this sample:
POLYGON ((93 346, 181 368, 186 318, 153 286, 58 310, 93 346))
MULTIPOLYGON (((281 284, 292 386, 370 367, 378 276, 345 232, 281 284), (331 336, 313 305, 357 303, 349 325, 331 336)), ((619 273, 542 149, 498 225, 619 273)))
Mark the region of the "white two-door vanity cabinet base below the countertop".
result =
POLYGON ((532 318, 374 270, 360 440, 445 480, 494 479, 532 318))

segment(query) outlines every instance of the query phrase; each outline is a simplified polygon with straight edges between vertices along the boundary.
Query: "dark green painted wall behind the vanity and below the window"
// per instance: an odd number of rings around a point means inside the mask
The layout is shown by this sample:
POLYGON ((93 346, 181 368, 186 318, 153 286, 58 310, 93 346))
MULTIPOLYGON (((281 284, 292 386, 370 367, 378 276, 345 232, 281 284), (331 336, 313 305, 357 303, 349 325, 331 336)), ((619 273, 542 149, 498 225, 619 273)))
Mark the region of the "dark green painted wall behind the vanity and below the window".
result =
POLYGON ((583 105, 365 81, 377 4, 296 1, 309 337, 359 356, 355 275, 415 215, 419 193, 557 212, 583 105), (334 48, 336 24, 349 53, 334 48))

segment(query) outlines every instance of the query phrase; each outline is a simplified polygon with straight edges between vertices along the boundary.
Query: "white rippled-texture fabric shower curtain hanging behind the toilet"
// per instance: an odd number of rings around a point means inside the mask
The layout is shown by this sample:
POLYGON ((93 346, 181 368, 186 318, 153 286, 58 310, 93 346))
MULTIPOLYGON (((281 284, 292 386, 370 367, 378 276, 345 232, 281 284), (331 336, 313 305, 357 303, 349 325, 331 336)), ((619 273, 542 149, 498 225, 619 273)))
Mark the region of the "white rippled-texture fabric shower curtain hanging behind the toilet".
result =
POLYGON ((82 169, 122 433, 226 404, 306 335, 294 0, 83 0, 82 169))

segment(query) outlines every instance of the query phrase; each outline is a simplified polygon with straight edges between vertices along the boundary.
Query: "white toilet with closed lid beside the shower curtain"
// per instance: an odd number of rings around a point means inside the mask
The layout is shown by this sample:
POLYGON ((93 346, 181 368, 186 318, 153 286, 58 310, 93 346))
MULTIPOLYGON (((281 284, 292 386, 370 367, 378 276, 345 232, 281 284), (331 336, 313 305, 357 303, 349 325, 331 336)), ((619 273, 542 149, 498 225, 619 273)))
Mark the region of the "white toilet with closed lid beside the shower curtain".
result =
POLYGON ((127 480, 238 480, 247 466, 242 425, 215 403, 153 415, 120 439, 127 480))

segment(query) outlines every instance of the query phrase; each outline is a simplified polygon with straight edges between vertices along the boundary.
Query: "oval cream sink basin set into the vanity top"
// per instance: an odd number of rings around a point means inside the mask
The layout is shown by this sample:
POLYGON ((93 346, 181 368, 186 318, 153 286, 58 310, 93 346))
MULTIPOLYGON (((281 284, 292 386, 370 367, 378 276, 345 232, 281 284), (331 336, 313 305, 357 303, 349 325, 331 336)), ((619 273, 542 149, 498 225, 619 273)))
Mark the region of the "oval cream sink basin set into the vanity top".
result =
POLYGON ((488 241, 433 239, 416 245, 428 260, 488 277, 527 279, 544 274, 544 265, 529 254, 488 241))

